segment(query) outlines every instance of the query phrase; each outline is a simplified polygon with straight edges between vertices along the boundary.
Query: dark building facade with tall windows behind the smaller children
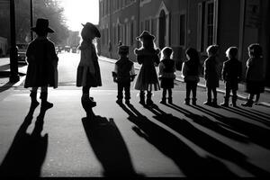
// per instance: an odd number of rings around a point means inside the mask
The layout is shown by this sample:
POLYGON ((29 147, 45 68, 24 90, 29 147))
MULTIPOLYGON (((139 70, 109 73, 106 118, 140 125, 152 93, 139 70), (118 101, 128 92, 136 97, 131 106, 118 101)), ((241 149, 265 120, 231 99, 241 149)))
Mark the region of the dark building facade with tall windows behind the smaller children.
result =
POLYGON ((118 58, 121 41, 130 46, 130 58, 135 59, 136 37, 147 30, 156 36, 158 48, 174 49, 178 69, 188 47, 200 51, 203 61, 209 45, 220 45, 221 68, 226 49, 236 46, 244 77, 247 46, 260 43, 268 78, 269 4, 268 0, 100 0, 101 54, 118 58))

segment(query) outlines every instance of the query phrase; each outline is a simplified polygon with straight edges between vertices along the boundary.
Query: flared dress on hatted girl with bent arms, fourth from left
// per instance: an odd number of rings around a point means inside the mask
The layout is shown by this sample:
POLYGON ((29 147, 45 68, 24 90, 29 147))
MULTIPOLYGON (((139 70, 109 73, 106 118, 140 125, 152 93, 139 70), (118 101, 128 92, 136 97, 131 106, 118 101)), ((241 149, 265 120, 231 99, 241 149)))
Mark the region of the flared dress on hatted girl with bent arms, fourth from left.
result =
POLYGON ((159 64, 158 53, 159 49, 140 48, 135 50, 138 63, 142 65, 135 83, 135 89, 139 91, 160 90, 155 68, 155 63, 159 64))

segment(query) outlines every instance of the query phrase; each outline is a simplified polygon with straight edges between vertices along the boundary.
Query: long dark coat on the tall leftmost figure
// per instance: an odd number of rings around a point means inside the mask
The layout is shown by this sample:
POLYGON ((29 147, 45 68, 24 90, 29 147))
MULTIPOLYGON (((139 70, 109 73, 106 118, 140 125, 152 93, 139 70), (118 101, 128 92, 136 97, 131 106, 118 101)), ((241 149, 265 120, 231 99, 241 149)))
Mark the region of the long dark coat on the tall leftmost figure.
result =
POLYGON ((31 41, 27 50, 28 62, 24 87, 58 87, 58 56, 54 43, 47 38, 31 41))

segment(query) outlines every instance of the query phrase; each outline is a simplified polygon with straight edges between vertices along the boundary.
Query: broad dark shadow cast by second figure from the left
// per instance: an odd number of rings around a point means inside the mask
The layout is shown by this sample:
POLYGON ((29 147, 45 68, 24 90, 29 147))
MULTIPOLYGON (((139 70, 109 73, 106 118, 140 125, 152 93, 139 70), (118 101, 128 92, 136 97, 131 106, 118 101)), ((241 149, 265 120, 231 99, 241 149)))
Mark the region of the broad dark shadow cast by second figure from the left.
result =
POLYGON ((132 166, 130 153, 113 119, 82 119, 86 136, 103 166, 104 176, 142 176, 132 166))

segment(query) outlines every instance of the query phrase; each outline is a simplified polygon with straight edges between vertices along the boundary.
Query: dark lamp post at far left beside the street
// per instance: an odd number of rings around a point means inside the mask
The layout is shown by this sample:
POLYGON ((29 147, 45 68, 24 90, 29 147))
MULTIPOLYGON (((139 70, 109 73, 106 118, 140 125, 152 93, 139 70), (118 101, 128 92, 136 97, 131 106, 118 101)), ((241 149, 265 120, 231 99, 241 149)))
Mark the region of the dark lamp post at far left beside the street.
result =
POLYGON ((11 34, 11 48, 10 48, 10 79, 11 83, 16 83, 20 80, 18 74, 18 49, 16 47, 16 31, 15 31, 15 3, 10 0, 10 34, 11 34))

